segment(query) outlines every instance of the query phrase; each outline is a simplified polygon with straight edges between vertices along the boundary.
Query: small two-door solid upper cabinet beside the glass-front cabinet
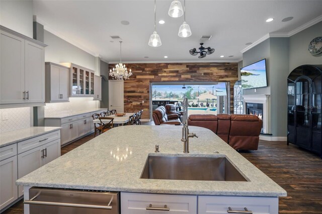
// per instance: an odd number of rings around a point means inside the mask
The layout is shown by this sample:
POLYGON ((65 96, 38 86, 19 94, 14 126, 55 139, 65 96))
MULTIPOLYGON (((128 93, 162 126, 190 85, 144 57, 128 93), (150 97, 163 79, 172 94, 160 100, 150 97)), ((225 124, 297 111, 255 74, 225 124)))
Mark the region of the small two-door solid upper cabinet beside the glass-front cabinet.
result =
POLYGON ((69 101, 69 68, 52 62, 45 63, 46 102, 69 101))

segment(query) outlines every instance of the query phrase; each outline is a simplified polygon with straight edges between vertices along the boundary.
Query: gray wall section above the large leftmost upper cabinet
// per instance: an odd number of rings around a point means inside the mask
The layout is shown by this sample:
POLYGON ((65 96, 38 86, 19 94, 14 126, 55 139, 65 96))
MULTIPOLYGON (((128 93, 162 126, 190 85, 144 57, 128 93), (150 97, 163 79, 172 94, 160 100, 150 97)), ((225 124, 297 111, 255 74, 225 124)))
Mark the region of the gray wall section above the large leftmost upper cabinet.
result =
POLYGON ((32 0, 0 1, 0 24, 25 36, 33 36, 32 0))

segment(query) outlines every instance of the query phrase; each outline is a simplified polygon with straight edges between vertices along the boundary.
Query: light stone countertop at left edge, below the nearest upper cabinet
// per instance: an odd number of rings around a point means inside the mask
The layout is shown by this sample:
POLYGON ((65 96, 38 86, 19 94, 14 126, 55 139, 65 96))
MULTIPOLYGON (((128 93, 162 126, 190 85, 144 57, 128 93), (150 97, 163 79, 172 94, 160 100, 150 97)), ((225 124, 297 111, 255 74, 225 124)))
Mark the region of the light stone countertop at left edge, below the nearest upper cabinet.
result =
POLYGON ((0 134, 0 148, 60 130, 60 127, 29 127, 0 134))

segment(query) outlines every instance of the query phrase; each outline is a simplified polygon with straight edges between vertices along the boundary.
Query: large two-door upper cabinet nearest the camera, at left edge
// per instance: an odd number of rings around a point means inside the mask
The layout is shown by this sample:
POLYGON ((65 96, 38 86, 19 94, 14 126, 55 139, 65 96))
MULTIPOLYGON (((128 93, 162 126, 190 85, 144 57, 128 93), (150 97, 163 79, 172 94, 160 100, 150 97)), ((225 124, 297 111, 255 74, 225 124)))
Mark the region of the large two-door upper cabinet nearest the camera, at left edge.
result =
POLYGON ((3 26, 0 43, 1 108, 43 105, 46 45, 3 26))

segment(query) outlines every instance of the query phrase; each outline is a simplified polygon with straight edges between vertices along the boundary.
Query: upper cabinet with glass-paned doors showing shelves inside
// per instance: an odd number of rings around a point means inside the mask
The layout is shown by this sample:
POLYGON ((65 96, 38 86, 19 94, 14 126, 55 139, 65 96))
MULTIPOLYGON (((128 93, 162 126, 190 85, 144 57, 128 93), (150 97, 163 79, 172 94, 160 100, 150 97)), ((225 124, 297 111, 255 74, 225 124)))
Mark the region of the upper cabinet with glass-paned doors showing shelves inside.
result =
POLYGON ((71 64, 70 96, 94 95, 94 71, 79 65, 71 64))

